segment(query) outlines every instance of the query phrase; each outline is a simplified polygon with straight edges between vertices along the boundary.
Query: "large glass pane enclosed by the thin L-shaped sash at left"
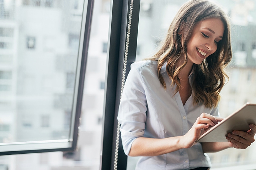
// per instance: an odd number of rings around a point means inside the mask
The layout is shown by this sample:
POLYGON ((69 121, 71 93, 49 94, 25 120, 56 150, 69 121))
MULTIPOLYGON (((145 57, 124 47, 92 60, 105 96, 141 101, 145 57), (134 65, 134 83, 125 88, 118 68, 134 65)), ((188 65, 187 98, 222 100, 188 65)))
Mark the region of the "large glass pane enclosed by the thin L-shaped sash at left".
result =
POLYGON ((0 143, 72 141, 83 6, 0 1, 0 143))

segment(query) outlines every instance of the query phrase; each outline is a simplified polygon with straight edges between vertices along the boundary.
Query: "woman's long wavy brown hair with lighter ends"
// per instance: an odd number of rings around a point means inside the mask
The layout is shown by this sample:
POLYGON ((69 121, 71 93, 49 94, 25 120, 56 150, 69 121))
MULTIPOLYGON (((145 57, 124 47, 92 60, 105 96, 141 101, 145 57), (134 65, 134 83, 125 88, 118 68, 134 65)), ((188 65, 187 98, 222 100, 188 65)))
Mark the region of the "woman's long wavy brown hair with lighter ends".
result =
POLYGON ((230 23, 228 16, 219 6, 208 0, 186 2, 173 19, 159 51, 150 60, 158 61, 158 77, 165 89, 166 84, 160 71, 162 66, 167 63, 166 72, 172 81, 171 86, 177 85, 177 93, 182 88, 178 74, 187 63, 187 42, 190 40, 196 23, 208 18, 219 18, 223 22, 223 39, 219 41, 215 53, 208 56, 201 64, 194 64, 195 76, 192 94, 194 104, 202 102, 206 107, 212 108, 219 103, 219 93, 225 84, 225 78, 228 78, 224 68, 232 58, 230 23), (181 39, 183 40, 181 41, 181 39), (183 56, 185 56, 184 62, 177 67, 180 57, 183 56))

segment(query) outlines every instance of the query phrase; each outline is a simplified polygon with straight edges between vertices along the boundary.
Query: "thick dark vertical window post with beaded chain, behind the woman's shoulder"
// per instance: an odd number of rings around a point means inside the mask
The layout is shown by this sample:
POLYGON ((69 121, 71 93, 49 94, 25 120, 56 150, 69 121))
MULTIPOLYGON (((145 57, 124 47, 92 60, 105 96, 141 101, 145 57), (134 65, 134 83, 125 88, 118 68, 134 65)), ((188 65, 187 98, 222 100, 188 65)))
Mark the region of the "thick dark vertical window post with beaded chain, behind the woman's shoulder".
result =
POLYGON ((140 0, 111 0, 101 170, 125 170, 127 166, 127 156, 122 147, 117 115, 122 81, 126 79, 130 64, 135 61, 136 57, 139 10, 140 0))

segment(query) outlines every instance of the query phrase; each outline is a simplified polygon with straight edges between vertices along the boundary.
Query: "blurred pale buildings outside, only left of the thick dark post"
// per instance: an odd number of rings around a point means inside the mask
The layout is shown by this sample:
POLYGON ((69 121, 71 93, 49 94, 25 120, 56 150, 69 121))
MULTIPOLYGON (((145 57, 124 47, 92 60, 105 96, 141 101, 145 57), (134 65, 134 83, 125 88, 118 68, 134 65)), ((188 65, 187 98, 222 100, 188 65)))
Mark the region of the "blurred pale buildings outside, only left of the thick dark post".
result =
MULTIPOLYGON (((69 138, 84 3, 0 0, 0 143, 69 138)), ((0 170, 99 169, 109 13, 95 1, 77 151, 0 156, 0 170)))

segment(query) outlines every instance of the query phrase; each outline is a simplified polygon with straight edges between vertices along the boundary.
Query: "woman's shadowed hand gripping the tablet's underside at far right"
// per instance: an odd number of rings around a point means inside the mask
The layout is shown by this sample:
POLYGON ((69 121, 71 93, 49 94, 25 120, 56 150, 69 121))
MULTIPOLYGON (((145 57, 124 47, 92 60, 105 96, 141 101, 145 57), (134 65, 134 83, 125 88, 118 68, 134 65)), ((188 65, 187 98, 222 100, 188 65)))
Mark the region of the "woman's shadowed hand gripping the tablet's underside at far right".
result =
POLYGON ((230 147, 245 149, 255 141, 254 136, 256 133, 256 126, 254 124, 250 124, 249 127, 251 129, 247 132, 234 130, 232 133, 228 134, 226 139, 229 140, 230 147))

